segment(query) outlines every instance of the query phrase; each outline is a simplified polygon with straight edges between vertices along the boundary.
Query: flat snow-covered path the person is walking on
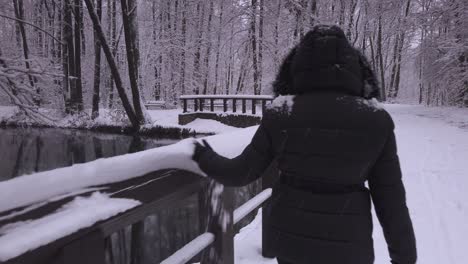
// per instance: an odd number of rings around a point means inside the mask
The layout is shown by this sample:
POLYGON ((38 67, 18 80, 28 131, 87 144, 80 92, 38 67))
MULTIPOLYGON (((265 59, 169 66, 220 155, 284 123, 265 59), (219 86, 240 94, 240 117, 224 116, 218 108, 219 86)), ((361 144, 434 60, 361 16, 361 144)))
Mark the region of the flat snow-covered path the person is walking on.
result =
MULTIPOLYGON (((397 127, 418 263, 468 263, 467 109, 405 105, 387 105, 386 109, 397 127)), ((390 263, 375 217, 374 226, 375 263, 390 263)), ((260 248, 261 221, 257 217, 236 237, 236 263, 276 264, 262 259, 260 248)))

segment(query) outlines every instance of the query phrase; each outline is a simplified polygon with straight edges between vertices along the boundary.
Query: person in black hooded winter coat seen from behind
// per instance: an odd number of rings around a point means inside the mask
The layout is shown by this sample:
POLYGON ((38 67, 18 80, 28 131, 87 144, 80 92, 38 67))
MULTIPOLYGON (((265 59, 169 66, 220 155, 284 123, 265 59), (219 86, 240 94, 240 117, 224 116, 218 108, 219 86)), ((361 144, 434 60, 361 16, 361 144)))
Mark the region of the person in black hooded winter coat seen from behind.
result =
POLYGON ((258 179, 277 159, 267 232, 279 263, 374 262, 371 198, 392 263, 416 263, 394 123, 379 108, 366 59, 336 26, 316 26, 283 62, 276 95, 233 159, 197 144, 194 160, 227 186, 258 179), (368 182, 369 188, 365 186, 368 182))

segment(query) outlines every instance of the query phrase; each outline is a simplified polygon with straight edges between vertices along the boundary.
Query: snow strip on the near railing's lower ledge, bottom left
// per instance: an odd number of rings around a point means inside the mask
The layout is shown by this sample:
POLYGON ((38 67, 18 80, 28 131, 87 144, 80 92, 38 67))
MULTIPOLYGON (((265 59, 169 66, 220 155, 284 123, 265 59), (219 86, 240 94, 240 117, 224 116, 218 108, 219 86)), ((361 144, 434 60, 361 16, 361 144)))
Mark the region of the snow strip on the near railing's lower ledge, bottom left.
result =
POLYGON ((139 204, 136 200, 110 198, 95 192, 90 197, 76 197, 42 218, 3 226, 0 229, 0 261, 17 257, 139 204))

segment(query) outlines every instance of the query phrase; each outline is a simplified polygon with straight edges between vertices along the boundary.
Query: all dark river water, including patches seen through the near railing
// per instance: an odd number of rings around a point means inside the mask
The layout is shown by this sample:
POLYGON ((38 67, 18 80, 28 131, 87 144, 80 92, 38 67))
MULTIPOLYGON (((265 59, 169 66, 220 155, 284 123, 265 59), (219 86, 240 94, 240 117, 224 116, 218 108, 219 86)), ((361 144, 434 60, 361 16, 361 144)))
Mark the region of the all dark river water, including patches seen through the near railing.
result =
MULTIPOLYGON (((103 157, 173 144, 156 139, 85 130, 54 128, 0 128, 0 182, 38 171, 67 167, 103 157)), ((236 190, 236 206, 258 192, 259 183, 236 190)), ((250 219, 241 223, 245 225, 250 219)), ((170 204, 144 221, 141 264, 159 263, 190 242, 200 230, 196 195, 170 204)), ((113 234, 107 242, 107 263, 129 264, 131 230, 113 234), (110 242, 110 243, 109 243, 110 242)))

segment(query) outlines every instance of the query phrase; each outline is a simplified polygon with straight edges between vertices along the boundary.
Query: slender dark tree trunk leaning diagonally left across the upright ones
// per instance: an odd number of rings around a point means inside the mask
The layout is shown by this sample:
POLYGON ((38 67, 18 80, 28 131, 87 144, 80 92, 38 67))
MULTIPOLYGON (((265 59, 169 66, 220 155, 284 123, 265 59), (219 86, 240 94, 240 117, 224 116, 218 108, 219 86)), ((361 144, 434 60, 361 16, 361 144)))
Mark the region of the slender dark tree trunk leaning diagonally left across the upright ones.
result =
POLYGON ((88 9, 89 16, 91 17, 91 20, 93 22, 93 27, 96 30, 96 34, 99 37, 102 49, 104 51, 104 54, 106 55, 107 63, 109 64, 109 68, 115 80, 117 92, 119 93, 120 99, 122 100, 122 106, 125 109, 125 112, 127 113, 128 119, 132 123, 132 126, 135 129, 139 129, 140 120, 137 118, 135 112, 133 111, 130 101, 128 100, 127 94, 125 93, 125 88, 123 87, 122 79, 120 78, 120 73, 117 68, 117 64, 115 63, 114 57, 112 56, 112 51, 109 48, 109 45, 107 44, 101 24, 99 23, 99 17, 95 12, 93 3, 91 2, 91 0, 84 1, 88 9))

